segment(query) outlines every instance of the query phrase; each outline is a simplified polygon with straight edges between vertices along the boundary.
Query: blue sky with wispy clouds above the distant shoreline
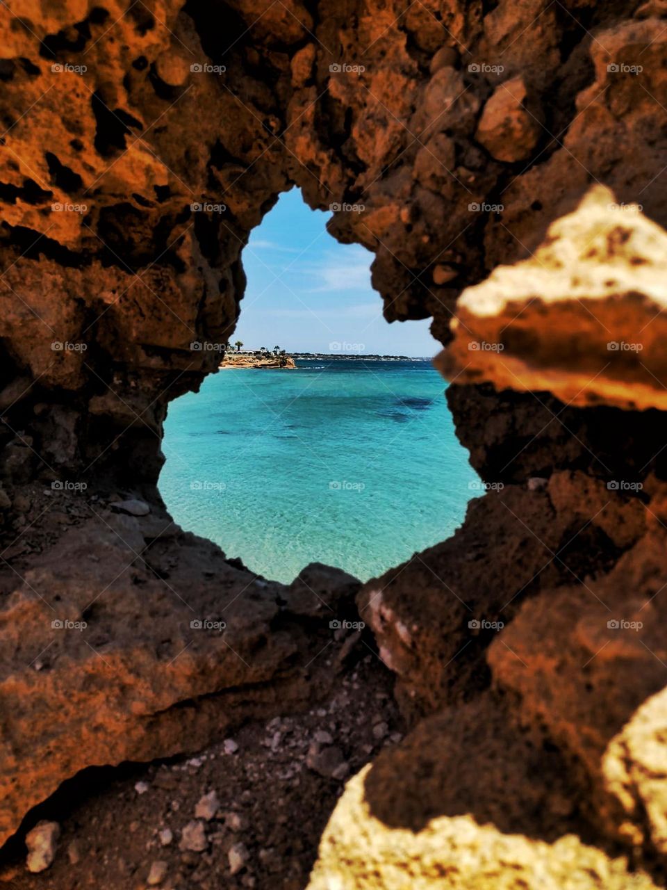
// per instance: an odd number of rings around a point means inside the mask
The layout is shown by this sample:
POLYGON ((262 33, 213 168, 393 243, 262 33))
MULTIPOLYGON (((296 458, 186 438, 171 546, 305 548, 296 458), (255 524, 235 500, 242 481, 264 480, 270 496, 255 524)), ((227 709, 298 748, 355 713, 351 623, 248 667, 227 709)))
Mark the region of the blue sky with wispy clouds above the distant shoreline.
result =
POLYGON ((373 254, 335 241, 325 229, 329 216, 310 210, 294 188, 253 230, 232 342, 287 352, 435 355, 440 345, 429 319, 388 324, 382 318, 382 299, 371 287, 373 254))

